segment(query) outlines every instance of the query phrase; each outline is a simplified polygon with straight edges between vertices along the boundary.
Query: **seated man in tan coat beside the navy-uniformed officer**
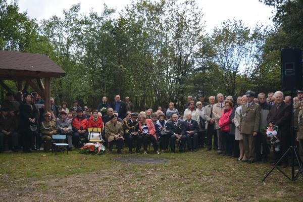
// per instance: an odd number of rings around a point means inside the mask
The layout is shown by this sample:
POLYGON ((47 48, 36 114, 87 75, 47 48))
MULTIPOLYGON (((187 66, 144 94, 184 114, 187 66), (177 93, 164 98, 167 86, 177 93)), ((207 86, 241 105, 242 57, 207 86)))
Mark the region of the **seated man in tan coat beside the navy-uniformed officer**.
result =
POLYGON ((122 154, 124 143, 122 123, 117 121, 117 115, 113 115, 111 120, 105 124, 105 138, 109 142, 109 154, 112 153, 114 143, 117 144, 118 154, 122 154))

